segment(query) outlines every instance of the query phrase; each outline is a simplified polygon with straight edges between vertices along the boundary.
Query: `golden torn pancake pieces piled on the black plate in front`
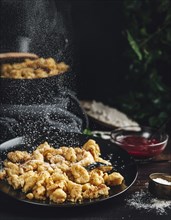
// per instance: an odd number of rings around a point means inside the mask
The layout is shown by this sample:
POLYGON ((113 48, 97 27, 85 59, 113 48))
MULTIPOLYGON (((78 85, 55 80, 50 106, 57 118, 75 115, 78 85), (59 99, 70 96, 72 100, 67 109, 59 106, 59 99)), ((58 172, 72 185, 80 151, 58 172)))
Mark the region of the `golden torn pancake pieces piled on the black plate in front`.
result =
POLYGON ((9 152, 0 180, 22 190, 30 200, 63 203, 108 196, 110 187, 121 185, 124 177, 112 172, 111 163, 100 155, 99 145, 92 139, 82 147, 54 148, 45 142, 31 153, 9 152), (108 169, 87 169, 95 162, 105 163, 108 169))

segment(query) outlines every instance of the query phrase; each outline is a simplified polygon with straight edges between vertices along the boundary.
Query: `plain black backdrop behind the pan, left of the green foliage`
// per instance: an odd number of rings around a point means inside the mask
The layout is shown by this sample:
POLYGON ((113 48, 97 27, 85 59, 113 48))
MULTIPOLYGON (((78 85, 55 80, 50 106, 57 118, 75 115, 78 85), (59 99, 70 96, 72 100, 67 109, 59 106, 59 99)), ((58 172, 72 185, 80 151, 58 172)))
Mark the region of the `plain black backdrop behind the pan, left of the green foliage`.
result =
POLYGON ((107 102, 126 89, 122 1, 1 0, 1 52, 22 51, 69 63, 80 99, 107 102), (66 40, 67 39, 67 40, 66 40))

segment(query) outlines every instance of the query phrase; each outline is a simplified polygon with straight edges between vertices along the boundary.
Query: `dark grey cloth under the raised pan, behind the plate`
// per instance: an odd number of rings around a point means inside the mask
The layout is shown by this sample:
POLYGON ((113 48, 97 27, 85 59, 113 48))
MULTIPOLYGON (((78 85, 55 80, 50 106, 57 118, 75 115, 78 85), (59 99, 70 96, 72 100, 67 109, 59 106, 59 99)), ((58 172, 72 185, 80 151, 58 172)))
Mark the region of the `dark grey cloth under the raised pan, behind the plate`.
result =
POLYGON ((81 133, 87 127, 87 116, 72 91, 58 94, 52 103, 1 104, 0 142, 16 136, 36 136, 55 130, 81 133))

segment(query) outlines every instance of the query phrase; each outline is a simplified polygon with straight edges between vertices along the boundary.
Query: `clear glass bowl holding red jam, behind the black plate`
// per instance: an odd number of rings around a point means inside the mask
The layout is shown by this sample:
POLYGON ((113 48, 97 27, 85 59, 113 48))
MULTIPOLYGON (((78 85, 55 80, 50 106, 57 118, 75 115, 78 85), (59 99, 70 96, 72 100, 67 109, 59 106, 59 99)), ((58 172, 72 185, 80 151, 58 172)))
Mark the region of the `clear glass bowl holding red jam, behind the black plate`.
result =
POLYGON ((111 131, 111 141, 135 159, 151 159, 166 147, 168 135, 145 126, 126 126, 111 131))

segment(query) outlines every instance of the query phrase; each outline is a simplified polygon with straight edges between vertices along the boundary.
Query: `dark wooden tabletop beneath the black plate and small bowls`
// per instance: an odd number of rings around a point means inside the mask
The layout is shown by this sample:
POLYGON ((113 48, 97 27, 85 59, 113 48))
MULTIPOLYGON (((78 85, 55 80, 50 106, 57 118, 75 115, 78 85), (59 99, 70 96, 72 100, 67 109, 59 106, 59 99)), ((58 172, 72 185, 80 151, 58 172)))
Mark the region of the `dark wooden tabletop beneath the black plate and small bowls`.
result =
POLYGON ((156 211, 137 210, 129 207, 127 198, 135 192, 147 189, 149 174, 153 172, 171 172, 170 143, 168 143, 162 155, 156 161, 139 164, 138 177, 135 183, 123 194, 90 206, 54 208, 26 204, 9 198, 0 193, 0 220, 55 220, 55 219, 75 219, 75 220, 122 220, 122 219, 170 219, 171 209, 165 214, 159 215, 156 211))

